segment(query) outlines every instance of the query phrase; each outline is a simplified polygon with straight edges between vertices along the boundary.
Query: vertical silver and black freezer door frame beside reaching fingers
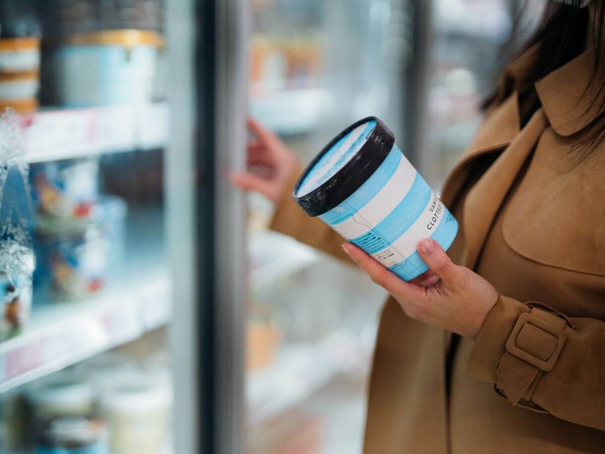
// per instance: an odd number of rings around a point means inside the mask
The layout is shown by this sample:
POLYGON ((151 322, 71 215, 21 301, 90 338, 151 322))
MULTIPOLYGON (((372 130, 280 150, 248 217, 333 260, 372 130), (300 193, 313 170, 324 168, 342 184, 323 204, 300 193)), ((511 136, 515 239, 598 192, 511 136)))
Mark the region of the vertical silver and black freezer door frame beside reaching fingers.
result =
POLYGON ((240 453, 245 312, 243 163, 246 4, 168 2, 167 162, 174 278, 174 442, 178 453, 240 453))

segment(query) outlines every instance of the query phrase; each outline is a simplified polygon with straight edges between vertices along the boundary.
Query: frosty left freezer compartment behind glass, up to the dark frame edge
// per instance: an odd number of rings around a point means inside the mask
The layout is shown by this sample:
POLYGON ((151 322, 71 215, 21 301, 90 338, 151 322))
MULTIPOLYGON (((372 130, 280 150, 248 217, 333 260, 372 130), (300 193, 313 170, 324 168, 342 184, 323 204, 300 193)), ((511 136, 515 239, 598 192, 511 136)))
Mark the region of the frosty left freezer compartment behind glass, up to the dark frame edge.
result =
POLYGON ((238 452, 212 432, 220 10, 0 0, 2 453, 238 452))

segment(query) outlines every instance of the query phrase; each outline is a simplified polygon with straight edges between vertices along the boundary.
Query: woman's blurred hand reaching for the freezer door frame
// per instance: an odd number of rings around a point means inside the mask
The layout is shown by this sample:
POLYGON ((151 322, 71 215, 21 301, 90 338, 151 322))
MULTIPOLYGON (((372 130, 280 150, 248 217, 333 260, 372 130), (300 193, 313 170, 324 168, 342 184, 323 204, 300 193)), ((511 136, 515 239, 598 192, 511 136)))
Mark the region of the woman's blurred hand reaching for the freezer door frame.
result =
POLYGON ((250 118, 247 125, 257 137, 247 145, 248 170, 232 176, 232 181, 238 188, 258 191, 276 203, 298 159, 279 137, 257 120, 250 118))

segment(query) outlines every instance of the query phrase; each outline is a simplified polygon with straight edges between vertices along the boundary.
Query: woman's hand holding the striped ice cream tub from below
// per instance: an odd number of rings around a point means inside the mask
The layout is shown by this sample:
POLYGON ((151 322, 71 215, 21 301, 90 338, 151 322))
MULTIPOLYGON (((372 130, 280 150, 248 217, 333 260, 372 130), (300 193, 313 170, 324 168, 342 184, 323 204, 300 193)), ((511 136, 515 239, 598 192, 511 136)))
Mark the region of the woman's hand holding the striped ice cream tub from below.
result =
POLYGON ((374 283, 399 301, 409 317, 464 337, 476 337, 499 298, 494 286, 470 269, 454 265, 431 239, 418 244, 420 257, 430 270, 410 282, 401 280, 355 245, 345 243, 342 249, 374 283))

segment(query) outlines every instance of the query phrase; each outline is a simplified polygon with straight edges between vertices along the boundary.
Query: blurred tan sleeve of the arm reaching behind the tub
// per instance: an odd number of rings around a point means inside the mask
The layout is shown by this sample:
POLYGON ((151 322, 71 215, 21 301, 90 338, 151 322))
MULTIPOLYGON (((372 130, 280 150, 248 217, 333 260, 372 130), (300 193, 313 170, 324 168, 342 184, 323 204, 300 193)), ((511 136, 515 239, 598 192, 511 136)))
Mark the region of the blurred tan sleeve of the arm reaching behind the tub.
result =
POLYGON ((325 225, 318 217, 310 217, 302 211, 292 197, 292 188, 301 174, 302 168, 296 168, 284 186, 280 200, 275 206, 275 214, 269 226, 276 232, 289 235, 301 243, 312 246, 340 260, 353 263, 342 250, 346 240, 325 225))

